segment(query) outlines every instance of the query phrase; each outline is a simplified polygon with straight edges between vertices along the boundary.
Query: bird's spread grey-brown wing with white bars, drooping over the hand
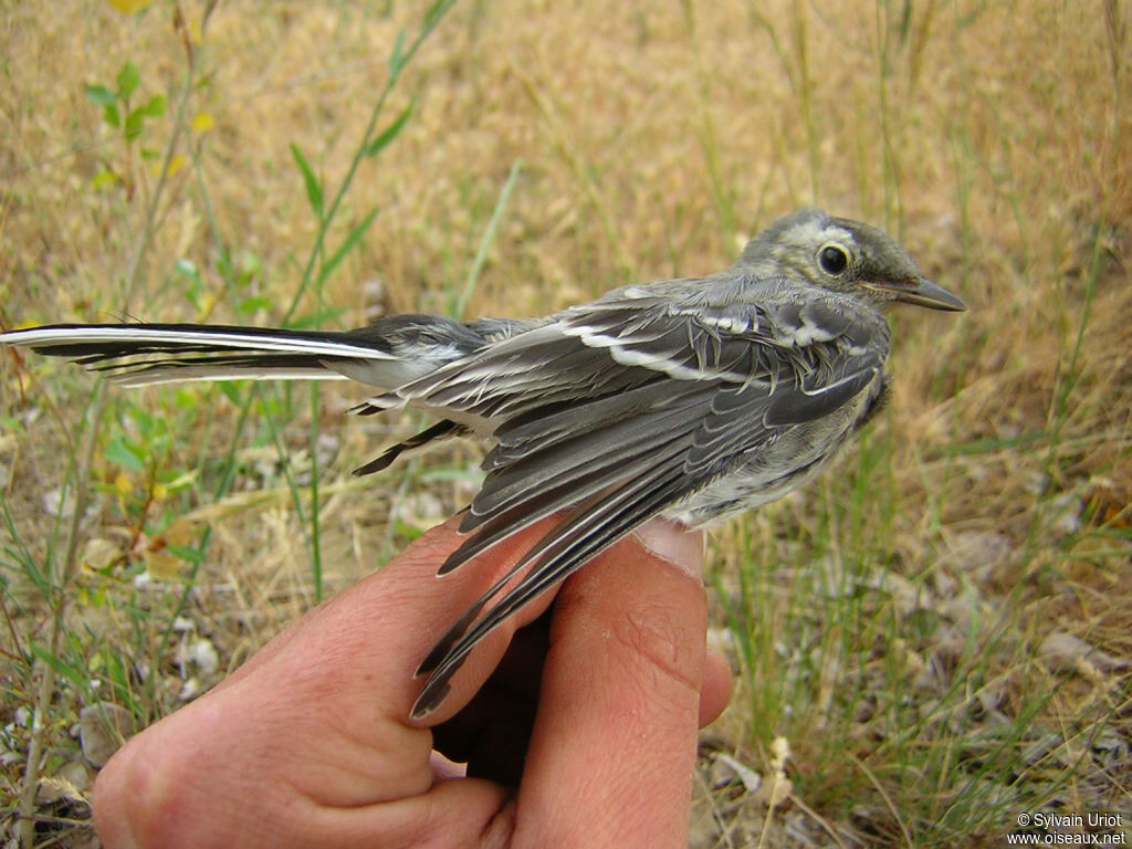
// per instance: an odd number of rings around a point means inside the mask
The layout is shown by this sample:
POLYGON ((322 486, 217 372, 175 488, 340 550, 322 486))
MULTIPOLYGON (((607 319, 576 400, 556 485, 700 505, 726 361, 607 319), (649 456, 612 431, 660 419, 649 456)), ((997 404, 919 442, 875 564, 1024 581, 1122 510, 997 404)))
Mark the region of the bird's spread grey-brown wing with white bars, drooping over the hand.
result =
POLYGON ((471 535, 441 574, 568 509, 420 664, 430 678, 414 717, 440 704, 453 674, 507 617, 791 429, 842 408, 877 378, 887 351, 880 317, 644 300, 569 310, 396 392, 497 422, 487 479, 461 525, 471 535))

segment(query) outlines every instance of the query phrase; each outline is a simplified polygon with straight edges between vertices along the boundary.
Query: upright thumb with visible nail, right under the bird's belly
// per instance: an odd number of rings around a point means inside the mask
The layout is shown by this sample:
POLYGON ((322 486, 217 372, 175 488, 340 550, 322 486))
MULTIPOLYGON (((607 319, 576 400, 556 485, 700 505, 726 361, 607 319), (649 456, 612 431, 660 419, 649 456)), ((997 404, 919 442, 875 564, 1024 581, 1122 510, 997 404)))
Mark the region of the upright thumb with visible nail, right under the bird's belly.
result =
POLYGON ((517 844, 687 844, 702 569, 702 534, 654 521, 559 592, 517 844))

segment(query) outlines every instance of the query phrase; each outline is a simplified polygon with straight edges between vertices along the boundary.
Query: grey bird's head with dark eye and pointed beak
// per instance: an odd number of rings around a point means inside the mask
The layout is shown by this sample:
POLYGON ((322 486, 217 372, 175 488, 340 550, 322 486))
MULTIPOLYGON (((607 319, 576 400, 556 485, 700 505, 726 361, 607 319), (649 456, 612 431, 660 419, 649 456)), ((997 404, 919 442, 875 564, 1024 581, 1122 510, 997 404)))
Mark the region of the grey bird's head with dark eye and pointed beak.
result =
POLYGON ((801 209, 779 218, 743 251, 738 265, 760 276, 800 275, 877 308, 893 301, 943 310, 967 306, 916 267, 908 252, 871 224, 801 209))

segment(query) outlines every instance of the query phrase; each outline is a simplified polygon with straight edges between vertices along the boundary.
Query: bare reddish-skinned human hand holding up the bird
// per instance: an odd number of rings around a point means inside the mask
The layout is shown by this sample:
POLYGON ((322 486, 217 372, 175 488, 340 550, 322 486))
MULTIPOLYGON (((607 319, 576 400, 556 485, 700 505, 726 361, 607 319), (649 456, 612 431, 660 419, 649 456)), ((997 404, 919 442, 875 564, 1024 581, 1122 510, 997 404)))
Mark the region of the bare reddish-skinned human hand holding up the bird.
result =
POLYGON ((434 529, 132 738, 94 788, 106 849, 687 846, 695 732, 731 687, 698 533, 620 541, 409 719, 420 658, 554 522, 443 580, 462 538, 434 529))

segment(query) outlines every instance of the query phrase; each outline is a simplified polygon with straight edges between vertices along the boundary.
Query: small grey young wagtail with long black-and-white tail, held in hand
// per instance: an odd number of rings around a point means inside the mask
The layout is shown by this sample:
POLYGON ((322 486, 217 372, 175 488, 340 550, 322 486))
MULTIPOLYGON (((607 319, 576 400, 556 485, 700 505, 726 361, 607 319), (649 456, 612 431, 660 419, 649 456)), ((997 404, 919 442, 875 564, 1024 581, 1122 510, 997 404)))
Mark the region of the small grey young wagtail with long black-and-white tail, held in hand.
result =
POLYGON ((881 310, 893 301, 964 309, 883 231, 804 209, 727 271, 625 286, 539 319, 404 315, 348 332, 50 325, 0 343, 126 386, 351 379, 380 389, 355 412, 408 405, 439 419, 355 474, 444 437, 488 439, 487 478, 460 526, 468 539, 439 574, 565 517, 421 662, 419 718, 484 635, 648 520, 705 525, 814 478, 880 406, 881 310))

